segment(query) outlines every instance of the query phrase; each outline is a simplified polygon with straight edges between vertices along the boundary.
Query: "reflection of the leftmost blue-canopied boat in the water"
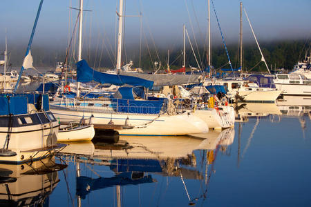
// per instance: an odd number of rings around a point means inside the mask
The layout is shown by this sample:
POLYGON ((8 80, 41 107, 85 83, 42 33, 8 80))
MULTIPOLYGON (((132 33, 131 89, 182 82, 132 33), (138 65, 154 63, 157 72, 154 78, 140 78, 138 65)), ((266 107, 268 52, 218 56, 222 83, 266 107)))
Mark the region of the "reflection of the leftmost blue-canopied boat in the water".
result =
POLYGON ((64 164, 55 164, 55 157, 32 164, 0 164, 0 206, 48 204, 48 197, 59 182, 57 171, 64 168, 64 164))

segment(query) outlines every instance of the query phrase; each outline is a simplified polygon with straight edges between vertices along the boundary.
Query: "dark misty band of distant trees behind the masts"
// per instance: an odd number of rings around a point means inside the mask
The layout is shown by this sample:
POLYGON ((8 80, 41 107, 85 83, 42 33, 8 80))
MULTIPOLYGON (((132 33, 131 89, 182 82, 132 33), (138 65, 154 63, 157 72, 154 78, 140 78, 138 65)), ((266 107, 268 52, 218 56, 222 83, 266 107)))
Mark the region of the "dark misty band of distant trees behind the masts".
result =
MULTIPOLYGON (((305 41, 274 41, 274 42, 265 42, 261 43, 261 49, 263 55, 269 68, 285 68, 292 69, 294 63, 303 59, 304 49, 306 46, 310 46, 310 42, 305 43, 305 41)), ((2 47, 1 47, 2 48, 2 47)), ((229 56, 232 61, 232 66, 238 68, 240 64, 238 63, 238 46, 229 45, 227 46, 229 50, 229 56)), ((12 66, 21 66, 23 61, 23 55, 26 50, 24 47, 20 46, 10 46, 10 63, 12 66)), ((129 50, 127 48, 127 54, 123 57, 123 63, 126 61, 133 60, 135 68, 140 66, 143 70, 154 70, 154 62, 158 61, 162 63, 162 68, 167 67, 167 50, 158 49, 158 50, 147 50, 147 48, 142 49, 142 57, 139 58, 138 50, 129 50)), ((197 51, 196 51, 197 52, 197 51)), ((197 52, 198 53, 198 52, 197 52)), ((201 46, 199 48, 200 57, 198 61, 201 68, 207 66, 207 55, 206 48, 201 46)), ((46 48, 43 46, 32 46, 32 57, 34 60, 34 66, 49 66, 54 67, 57 61, 64 61, 66 55, 66 48, 46 48)), ((82 57, 86 59, 90 66, 98 68, 113 68, 114 57, 103 52, 102 57, 100 57, 100 52, 95 52, 95 49, 85 52, 82 54, 82 57), (96 66, 95 66, 96 65, 96 66)), ((192 54, 190 48, 187 48, 186 51, 186 66, 198 67, 196 59, 192 54)), ((0 58, 1 59, 1 58, 0 58)), ((265 64, 261 61, 261 55, 258 51, 256 44, 247 44, 243 48, 243 70, 252 70, 252 71, 265 71, 265 64)), ((75 59, 70 58, 72 64, 75 63, 75 59)), ((182 66, 182 48, 178 48, 170 52, 170 61, 171 68, 176 69, 182 66)), ((214 46, 212 48, 211 63, 214 68, 220 68, 228 63, 227 55, 223 46, 214 46)), ((229 65, 224 66, 224 68, 229 68, 229 65)))

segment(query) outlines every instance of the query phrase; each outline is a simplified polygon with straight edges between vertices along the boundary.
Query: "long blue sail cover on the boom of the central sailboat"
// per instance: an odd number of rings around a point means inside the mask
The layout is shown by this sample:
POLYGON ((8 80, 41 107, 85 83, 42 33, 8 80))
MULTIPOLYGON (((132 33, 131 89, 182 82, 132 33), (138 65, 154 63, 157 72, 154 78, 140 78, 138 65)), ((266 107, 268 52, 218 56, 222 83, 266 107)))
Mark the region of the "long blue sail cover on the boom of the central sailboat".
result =
POLYGON ((148 81, 138 77, 98 72, 90 68, 84 59, 77 62, 77 81, 82 83, 97 81, 98 83, 111 83, 116 86, 128 84, 131 86, 144 86, 149 89, 153 86, 153 81, 148 81))

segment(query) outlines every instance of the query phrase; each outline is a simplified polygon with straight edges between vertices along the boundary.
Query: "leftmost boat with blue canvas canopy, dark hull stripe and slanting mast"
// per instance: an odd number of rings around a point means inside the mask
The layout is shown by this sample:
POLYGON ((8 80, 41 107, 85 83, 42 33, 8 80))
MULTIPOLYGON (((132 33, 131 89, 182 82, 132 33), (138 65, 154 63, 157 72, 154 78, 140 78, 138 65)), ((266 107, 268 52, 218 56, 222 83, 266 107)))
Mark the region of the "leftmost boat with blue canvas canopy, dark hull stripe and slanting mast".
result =
POLYGON ((12 93, 0 93, 0 162, 22 164, 50 157, 57 145, 58 121, 50 112, 48 95, 17 93, 24 68, 32 68, 30 47, 39 19, 40 1, 35 24, 12 93))

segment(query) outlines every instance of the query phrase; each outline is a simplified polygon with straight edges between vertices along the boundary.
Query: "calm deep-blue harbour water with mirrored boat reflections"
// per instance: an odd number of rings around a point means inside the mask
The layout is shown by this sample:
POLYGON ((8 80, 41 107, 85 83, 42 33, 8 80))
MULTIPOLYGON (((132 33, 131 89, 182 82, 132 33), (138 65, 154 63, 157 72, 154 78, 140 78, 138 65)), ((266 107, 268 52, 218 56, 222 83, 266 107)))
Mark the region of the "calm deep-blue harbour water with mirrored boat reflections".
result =
POLYGON ((120 137, 114 146, 69 144, 58 155, 67 168, 19 175, 17 181, 1 184, 1 201, 45 200, 50 206, 311 206, 308 107, 279 107, 279 115, 254 111, 269 110, 267 106, 241 107, 244 122, 200 136, 207 139, 120 137), (247 117, 254 114, 261 116, 247 117), (34 190, 35 184, 41 190, 34 190), (17 186, 19 195, 14 195, 17 186))

